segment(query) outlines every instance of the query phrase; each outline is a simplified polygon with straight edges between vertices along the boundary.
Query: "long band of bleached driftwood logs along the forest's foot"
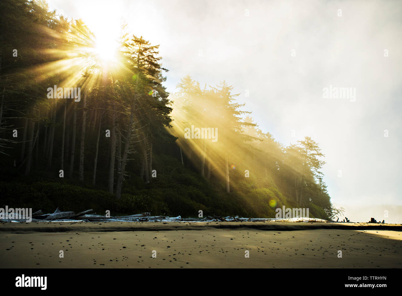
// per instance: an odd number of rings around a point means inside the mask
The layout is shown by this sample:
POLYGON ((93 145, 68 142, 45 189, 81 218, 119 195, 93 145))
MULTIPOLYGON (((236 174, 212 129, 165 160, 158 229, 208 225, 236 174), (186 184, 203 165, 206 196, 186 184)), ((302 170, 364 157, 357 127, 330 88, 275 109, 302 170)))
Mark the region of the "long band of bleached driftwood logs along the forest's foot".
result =
MULTIPOLYGON (((58 208, 52 214, 43 214, 41 210, 32 214, 31 222, 260 222, 260 221, 276 221, 276 222, 327 222, 326 220, 314 218, 292 218, 292 219, 276 219, 276 218, 241 218, 239 216, 207 216, 205 218, 181 218, 169 216, 151 216, 151 213, 142 213, 129 216, 103 216, 90 214, 93 210, 86 210, 78 214, 74 212, 61 212, 58 208)), ((11 219, 2 219, 3 222, 27 222, 27 217, 14 216, 11 219)))

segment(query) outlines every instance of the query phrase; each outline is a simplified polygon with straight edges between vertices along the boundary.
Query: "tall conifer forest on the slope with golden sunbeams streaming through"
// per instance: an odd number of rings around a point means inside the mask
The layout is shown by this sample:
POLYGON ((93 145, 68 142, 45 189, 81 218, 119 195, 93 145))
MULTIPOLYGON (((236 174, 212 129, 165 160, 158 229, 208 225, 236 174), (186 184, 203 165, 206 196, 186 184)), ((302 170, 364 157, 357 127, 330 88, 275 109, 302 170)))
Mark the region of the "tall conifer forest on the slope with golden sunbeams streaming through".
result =
POLYGON ((146 36, 122 26, 118 52, 105 59, 82 20, 43 1, 4 0, 0 11, 3 208, 336 215, 318 144, 279 143, 224 78, 200 85, 187 75, 168 93, 159 45, 146 36))

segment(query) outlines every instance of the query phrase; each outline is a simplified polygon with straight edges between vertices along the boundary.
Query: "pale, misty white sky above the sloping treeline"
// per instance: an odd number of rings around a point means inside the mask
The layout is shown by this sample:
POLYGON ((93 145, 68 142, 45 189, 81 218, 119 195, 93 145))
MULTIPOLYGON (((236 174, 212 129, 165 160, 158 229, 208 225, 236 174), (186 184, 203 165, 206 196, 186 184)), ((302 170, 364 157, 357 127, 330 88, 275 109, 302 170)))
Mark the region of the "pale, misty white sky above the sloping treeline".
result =
MULTIPOLYGON (((201 86, 226 80, 263 132, 285 146, 311 136, 331 201, 351 221, 402 205, 401 1, 48 3, 103 38, 124 20, 160 44, 168 91, 187 74, 201 86), (356 95, 326 98, 324 88, 356 95)), ((402 222, 401 210, 389 215, 402 222)))

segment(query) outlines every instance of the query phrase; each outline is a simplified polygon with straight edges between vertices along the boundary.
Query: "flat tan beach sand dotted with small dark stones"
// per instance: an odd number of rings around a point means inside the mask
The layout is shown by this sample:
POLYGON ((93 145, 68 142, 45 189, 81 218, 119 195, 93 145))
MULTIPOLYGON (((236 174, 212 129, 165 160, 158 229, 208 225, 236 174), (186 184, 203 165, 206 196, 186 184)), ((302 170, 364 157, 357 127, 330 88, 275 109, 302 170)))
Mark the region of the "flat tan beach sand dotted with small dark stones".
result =
POLYGON ((401 268, 400 230, 401 224, 366 223, 8 222, 0 224, 0 264, 9 268, 401 268), (59 251, 64 251, 64 258, 59 251))

